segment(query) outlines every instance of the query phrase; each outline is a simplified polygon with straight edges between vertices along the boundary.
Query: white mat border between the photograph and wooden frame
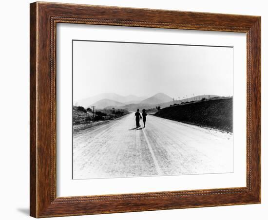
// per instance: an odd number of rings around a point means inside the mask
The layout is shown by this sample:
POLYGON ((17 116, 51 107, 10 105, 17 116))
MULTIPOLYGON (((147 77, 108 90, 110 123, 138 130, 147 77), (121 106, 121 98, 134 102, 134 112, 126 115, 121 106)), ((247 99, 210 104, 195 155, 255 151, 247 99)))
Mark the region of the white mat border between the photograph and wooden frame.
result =
POLYGON ((57 23, 57 197, 246 186, 246 34, 57 23), (72 40, 233 47, 233 172, 72 179, 72 40))

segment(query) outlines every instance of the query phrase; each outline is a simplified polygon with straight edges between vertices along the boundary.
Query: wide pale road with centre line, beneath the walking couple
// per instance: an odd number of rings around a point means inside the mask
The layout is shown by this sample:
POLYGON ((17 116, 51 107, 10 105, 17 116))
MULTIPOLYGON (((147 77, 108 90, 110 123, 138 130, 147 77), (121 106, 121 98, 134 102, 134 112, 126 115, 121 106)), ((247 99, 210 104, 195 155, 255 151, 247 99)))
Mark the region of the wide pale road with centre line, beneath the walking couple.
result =
POLYGON ((152 115, 146 123, 135 129, 131 113, 75 134, 73 178, 233 171, 231 134, 152 115))

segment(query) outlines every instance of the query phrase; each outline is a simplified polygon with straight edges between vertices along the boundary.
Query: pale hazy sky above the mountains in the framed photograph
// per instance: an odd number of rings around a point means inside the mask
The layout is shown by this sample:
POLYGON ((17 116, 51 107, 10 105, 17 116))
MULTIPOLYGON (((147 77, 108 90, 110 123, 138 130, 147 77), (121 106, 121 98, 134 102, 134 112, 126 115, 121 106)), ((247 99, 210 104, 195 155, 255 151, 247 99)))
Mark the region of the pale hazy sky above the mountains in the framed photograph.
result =
POLYGON ((232 95, 233 48, 73 41, 74 101, 99 93, 232 95))

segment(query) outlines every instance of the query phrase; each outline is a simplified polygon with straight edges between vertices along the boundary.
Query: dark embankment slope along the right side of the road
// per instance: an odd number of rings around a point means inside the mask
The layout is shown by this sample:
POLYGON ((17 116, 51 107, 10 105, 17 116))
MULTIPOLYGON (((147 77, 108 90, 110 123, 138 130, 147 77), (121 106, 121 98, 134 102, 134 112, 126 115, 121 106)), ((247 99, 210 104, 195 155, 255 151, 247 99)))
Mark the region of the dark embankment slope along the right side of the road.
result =
POLYGON ((232 132, 232 98, 211 99, 167 107, 154 115, 232 132))

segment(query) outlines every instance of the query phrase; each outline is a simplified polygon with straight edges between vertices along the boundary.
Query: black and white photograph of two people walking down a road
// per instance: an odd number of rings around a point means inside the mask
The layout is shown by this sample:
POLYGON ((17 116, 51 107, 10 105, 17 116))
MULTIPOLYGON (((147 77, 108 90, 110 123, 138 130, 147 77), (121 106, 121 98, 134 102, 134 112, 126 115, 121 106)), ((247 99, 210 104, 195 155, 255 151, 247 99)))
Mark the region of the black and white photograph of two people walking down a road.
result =
POLYGON ((72 41, 73 179, 233 172, 233 47, 72 41))

